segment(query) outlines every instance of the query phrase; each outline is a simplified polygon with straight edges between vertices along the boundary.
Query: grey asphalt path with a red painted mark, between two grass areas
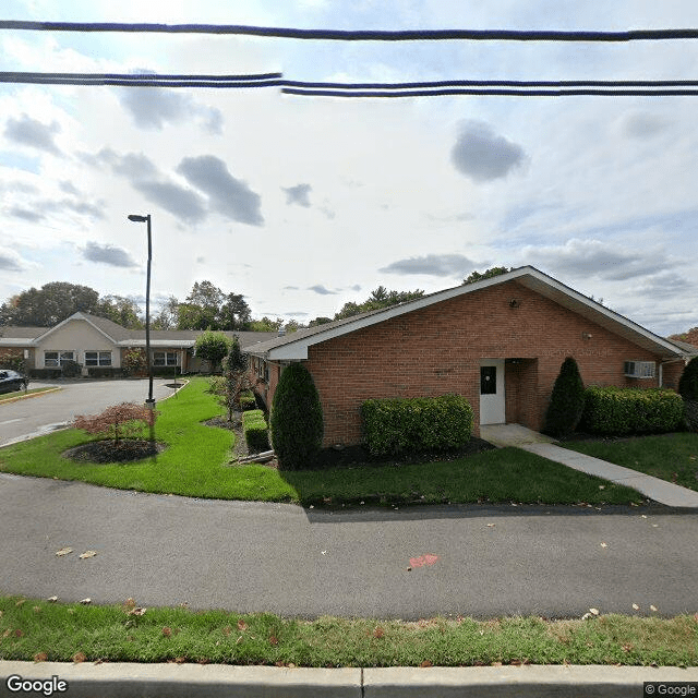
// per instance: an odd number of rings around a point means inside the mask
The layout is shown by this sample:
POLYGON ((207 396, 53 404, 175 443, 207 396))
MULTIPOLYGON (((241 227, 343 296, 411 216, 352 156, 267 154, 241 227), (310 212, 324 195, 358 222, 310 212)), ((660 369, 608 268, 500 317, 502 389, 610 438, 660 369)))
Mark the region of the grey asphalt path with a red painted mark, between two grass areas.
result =
POLYGON ((329 512, 0 474, 0 592, 63 601, 302 617, 698 611, 698 514, 661 506, 329 512))

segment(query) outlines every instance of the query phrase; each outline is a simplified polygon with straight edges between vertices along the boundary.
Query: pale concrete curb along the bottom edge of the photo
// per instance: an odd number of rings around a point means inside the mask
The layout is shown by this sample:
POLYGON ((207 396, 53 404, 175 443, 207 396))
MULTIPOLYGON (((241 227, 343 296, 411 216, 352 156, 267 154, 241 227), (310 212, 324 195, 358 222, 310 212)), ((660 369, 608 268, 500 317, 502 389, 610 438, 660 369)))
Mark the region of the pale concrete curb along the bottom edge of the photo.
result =
MULTIPOLYGON (((19 679, 9 685, 10 676, 44 684, 45 688, 39 687, 33 695, 70 698, 222 698, 231 695, 268 698, 640 698, 650 695, 643 691, 646 682, 682 682, 693 684, 698 690, 698 667, 674 666, 277 669, 0 661, 2 697, 29 695, 16 690, 19 679), (60 682, 67 685, 61 686, 60 682)), ((657 694, 662 695, 662 691, 657 694)))

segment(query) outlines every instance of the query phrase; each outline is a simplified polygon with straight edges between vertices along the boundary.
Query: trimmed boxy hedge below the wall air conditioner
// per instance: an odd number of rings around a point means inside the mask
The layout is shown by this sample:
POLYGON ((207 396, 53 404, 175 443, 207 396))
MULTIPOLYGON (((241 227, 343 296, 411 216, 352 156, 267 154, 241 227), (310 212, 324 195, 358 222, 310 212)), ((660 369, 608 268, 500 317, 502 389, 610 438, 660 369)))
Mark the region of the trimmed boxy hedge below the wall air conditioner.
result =
POLYGON ((666 388, 588 387, 581 428, 593 434, 660 434, 675 431, 684 401, 666 388))

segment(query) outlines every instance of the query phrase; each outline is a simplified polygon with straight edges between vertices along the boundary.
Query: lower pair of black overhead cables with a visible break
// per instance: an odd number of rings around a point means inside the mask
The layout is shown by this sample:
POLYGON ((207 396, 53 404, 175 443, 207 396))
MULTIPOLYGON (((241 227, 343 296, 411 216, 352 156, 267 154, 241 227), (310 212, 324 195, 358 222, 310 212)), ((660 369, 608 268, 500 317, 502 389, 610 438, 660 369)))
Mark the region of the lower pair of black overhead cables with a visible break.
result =
POLYGON ((282 93, 290 95, 300 95, 305 97, 354 98, 437 97, 445 95, 529 97, 698 96, 698 81, 696 80, 452 80, 410 83, 322 83, 286 80, 282 73, 191 75, 158 73, 0 72, 0 83, 121 87, 204 87, 215 89, 280 87, 282 93))

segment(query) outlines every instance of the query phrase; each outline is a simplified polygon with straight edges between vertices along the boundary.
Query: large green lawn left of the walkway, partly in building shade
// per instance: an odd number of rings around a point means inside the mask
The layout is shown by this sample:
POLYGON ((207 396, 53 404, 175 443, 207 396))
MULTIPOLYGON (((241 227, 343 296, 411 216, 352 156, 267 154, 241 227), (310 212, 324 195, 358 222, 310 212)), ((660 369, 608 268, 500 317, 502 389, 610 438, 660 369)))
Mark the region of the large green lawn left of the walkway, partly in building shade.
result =
POLYGON ((65 430, 0 449, 0 470, 82 480, 140 490, 219 500, 310 504, 402 504, 520 502, 628 504, 642 497, 516 448, 490 450, 457 460, 335 470, 279 472, 265 466, 228 466, 233 435, 203 421, 221 413, 196 377, 177 398, 158 405, 155 435, 167 444, 157 456, 133 464, 73 462, 62 453, 89 441, 65 430))

